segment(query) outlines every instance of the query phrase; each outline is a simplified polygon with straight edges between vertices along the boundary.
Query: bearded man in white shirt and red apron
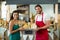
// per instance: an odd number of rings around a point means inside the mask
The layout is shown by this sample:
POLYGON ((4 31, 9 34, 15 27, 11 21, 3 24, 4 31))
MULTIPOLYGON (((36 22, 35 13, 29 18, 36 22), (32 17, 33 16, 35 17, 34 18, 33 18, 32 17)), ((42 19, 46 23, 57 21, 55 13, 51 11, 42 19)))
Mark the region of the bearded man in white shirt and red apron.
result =
POLYGON ((50 26, 50 19, 42 12, 40 5, 35 6, 37 15, 35 16, 36 29, 36 40, 48 40, 47 28, 50 26))

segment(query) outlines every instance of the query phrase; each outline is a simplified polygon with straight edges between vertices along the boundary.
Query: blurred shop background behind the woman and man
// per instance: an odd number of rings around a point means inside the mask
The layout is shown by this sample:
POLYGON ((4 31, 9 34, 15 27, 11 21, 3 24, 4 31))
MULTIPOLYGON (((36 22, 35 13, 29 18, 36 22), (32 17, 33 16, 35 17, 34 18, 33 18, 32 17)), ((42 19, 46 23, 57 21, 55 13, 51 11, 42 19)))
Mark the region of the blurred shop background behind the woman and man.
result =
MULTIPOLYGON (((19 12, 19 20, 29 22, 30 18, 35 17, 36 11, 34 9, 36 4, 14 4, 6 5, 5 0, 0 0, 0 40, 9 40, 9 20, 12 12, 17 10, 19 12), (25 19, 24 19, 25 18, 25 19)), ((50 18, 49 40, 59 40, 60 32, 60 3, 58 4, 40 4, 43 12, 50 18)), ((21 33, 21 38, 22 38, 21 33)))

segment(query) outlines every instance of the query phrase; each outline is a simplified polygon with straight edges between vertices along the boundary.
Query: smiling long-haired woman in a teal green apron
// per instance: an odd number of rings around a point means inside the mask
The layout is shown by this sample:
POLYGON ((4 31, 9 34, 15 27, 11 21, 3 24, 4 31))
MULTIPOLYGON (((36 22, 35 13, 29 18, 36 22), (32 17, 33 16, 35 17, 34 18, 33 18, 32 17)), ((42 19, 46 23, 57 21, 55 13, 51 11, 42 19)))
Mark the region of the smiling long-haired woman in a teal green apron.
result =
POLYGON ((9 40, 20 40, 20 30, 22 30, 22 28, 19 27, 19 23, 19 13, 15 10, 12 13, 9 23, 9 40))

